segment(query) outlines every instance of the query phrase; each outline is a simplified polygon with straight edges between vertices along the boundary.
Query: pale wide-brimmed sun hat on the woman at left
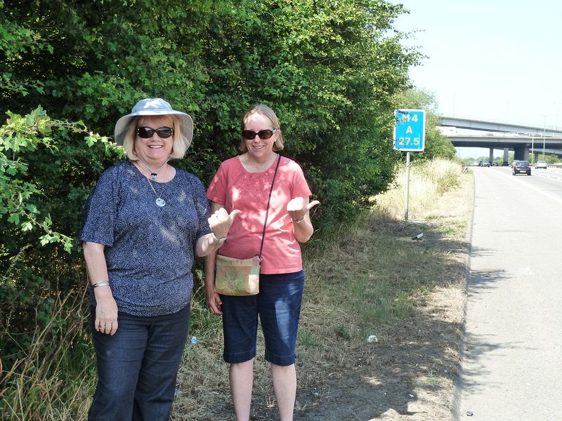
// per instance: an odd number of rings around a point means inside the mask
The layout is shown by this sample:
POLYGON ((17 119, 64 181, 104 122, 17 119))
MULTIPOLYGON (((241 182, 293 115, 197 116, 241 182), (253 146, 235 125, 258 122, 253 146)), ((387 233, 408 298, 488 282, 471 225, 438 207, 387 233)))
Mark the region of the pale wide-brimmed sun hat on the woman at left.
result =
POLYGON ((164 101, 162 98, 145 98, 144 100, 140 100, 131 110, 131 114, 122 116, 117 120, 114 132, 115 143, 117 143, 117 145, 123 145, 127 127, 134 117, 166 116, 171 114, 176 115, 178 118, 181 125, 180 132, 183 135, 183 142, 185 142, 185 150, 187 150, 193 137, 193 120, 189 114, 172 109, 169 102, 164 101))

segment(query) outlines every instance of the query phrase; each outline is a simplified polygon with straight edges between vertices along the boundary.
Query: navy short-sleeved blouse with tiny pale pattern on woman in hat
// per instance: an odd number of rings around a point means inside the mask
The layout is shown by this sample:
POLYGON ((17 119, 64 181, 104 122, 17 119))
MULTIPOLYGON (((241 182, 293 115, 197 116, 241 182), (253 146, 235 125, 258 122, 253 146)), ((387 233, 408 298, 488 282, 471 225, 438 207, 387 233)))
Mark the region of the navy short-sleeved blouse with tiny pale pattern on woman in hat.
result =
POLYGON ((158 316, 188 305, 195 243, 211 232, 209 213, 201 181, 186 171, 176 169, 174 179, 159 183, 123 161, 101 175, 86 203, 80 241, 105 245, 119 312, 158 316), (158 196, 165 206, 157 206, 158 196))

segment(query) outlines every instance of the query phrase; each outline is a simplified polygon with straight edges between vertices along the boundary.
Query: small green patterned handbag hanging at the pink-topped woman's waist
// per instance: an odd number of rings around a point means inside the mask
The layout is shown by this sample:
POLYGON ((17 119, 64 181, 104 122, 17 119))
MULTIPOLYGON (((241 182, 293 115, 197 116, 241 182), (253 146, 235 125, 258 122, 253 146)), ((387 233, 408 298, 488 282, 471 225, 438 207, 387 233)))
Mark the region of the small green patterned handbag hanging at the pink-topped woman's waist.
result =
POLYGON ((259 256, 235 259, 216 256, 215 289, 223 295, 259 294, 259 256))

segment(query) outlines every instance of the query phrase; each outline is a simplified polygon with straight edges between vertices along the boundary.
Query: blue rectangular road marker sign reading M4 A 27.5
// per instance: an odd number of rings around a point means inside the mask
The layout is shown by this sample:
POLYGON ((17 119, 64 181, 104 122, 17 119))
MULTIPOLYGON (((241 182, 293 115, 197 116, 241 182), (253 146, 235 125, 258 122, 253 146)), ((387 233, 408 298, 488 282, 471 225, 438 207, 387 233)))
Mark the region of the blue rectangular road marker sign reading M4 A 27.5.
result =
POLYGON ((394 149, 421 152, 425 148, 426 112, 423 109, 394 110, 394 149))

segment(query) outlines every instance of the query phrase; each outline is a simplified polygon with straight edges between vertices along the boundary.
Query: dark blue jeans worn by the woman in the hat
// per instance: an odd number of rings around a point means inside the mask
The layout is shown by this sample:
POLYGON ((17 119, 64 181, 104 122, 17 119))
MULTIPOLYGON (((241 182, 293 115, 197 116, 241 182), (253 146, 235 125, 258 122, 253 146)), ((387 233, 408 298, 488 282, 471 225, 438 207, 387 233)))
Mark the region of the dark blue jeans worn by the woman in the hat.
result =
POLYGON ((95 312, 92 307, 98 385, 88 420, 168 421, 188 337, 189 305, 164 316, 119 313, 113 336, 96 332, 95 312))

